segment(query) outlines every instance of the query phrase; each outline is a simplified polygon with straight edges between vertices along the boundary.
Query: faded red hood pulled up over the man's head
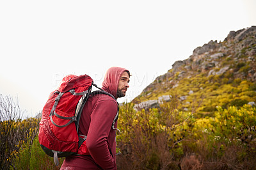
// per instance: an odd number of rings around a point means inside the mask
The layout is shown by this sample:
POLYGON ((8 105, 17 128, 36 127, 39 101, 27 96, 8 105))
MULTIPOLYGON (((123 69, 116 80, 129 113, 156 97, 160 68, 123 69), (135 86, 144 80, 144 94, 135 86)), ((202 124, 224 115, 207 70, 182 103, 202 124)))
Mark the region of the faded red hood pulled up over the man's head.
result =
POLYGON ((122 73, 124 72, 129 72, 129 71, 126 70, 125 68, 116 67, 116 66, 109 68, 104 77, 104 81, 102 82, 102 89, 104 89, 104 91, 107 91, 108 93, 113 95, 115 98, 117 98, 116 91, 118 88, 118 82, 122 73))

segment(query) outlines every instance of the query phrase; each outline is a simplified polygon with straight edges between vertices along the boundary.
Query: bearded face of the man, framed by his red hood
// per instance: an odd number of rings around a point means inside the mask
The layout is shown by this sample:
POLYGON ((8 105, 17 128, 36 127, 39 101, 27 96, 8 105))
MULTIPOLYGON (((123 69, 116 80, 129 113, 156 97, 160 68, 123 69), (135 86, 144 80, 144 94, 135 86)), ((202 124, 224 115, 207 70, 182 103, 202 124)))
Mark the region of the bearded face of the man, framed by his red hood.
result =
POLYGON ((127 88, 129 88, 129 74, 127 72, 122 73, 118 82, 118 88, 116 91, 116 97, 125 97, 127 88))

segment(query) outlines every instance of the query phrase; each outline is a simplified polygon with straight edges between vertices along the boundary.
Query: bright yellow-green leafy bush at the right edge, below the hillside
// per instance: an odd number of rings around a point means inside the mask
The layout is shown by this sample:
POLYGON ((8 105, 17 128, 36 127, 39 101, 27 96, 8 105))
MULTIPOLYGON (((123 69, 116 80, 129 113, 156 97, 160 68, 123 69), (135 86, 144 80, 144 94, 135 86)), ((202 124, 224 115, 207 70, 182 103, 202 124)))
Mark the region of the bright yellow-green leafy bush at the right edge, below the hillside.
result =
POLYGON ((222 109, 218 107, 214 121, 214 133, 223 139, 223 141, 231 143, 236 141, 237 144, 248 146, 256 137, 256 107, 244 105, 241 109, 237 107, 228 107, 222 109))

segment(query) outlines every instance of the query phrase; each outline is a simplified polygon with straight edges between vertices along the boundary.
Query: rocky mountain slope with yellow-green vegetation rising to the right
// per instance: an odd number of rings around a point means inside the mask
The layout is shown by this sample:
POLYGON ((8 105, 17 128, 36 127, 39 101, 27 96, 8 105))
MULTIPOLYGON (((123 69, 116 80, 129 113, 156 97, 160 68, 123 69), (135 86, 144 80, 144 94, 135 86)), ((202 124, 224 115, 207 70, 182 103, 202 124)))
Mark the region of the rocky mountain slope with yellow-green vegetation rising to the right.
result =
POLYGON ((136 97, 135 109, 177 99, 179 109, 212 114, 216 106, 256 102, 256 26, 230 31, 223 42, 210 41, 188 59, 156 78, 136 97))

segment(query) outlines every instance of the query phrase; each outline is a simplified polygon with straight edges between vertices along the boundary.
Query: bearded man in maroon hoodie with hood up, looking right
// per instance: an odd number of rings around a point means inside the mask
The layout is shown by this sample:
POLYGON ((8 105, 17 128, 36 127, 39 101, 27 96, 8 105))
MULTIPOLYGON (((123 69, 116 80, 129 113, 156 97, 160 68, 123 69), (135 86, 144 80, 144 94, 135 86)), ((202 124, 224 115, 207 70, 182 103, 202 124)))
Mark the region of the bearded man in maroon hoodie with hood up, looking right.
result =
MULTIPOLYGON (((115 99, 124 97, 129 88, 129 78, 128 70, 111 67, 106 72, 102 89, 115 99)), ((86 146, 90 155, 67 157, 61 169, 116 169, 116 132, 111 128, 118 111, 115 99, 104 94, 88 98, 79 123, 79 134, 87 136, 86 146)))

